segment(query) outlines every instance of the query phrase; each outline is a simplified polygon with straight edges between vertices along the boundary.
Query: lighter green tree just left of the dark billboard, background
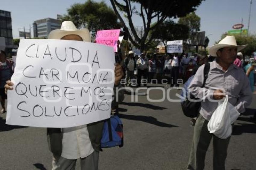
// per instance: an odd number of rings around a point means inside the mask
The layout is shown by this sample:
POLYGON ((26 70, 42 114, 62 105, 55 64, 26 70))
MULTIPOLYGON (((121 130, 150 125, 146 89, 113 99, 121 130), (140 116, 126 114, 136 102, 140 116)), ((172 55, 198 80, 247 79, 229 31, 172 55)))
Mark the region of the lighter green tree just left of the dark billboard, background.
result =
POLYGON ((197 36, 196 33, 200 31, 200 20, 201 20, 200 17, 196 15, 195 12, 187 14, 186 17, 181 17, 178 20, 179 24, 183 24, 189 27, 189 37, 187 39, 187 42, 189 44, 189 51, 190 51, 191 45, 195 45, 195 44, 192 44, 192 42, 195 40, 197 36))

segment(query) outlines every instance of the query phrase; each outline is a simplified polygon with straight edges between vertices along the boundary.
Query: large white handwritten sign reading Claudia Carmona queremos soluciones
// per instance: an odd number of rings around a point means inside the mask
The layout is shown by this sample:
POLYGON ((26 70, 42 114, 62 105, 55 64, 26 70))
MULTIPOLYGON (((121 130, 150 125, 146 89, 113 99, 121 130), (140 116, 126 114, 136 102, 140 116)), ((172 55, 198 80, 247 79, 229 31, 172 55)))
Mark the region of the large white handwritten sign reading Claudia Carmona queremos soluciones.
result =
POLYGON ((21 39, 6 124, 65 128, 110 117, 114 51, 96 43, 21 39))

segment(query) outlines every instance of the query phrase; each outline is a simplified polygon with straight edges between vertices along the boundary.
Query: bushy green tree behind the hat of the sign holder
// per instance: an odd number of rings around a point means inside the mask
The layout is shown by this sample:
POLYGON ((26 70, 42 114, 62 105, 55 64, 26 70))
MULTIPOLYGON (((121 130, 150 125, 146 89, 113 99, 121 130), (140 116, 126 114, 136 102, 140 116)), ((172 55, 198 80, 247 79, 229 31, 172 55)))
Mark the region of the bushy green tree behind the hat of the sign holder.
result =
POLYGON ((97 30, 120 29, 120 23, 114 11, 105 2, 88 0, 84 4, 76 3, 67 9, 63 21, 72 21, 77 28, 87 28, 95 36, 97 30))

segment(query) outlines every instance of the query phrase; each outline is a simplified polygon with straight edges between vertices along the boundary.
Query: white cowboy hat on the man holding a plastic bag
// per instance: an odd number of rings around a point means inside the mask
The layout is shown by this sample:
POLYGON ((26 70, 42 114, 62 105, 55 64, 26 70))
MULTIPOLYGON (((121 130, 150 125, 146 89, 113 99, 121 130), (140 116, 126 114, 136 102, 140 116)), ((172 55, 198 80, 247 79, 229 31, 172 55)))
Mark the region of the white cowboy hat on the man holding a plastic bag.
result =
POLYGON ((241 51, 244 49, 246 45, 237 45, 236 44, 236 38, 234 36, 227 35, 225 38, 223 38, 218 44, 213 45, 211 48, 209 48, 209 54, 211 56, 217 57, 217 51, 224 47, 237 47, 237 51, 241 51))

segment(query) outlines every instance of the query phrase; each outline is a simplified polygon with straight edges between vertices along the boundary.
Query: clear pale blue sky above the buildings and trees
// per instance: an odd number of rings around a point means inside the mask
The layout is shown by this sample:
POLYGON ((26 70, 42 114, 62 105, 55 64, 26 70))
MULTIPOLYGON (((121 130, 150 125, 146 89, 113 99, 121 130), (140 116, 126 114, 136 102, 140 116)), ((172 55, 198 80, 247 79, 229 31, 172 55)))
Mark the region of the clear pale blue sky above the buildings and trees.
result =
MULTIPOLYGON (((67 8, 74 3, 86 0, 2 0, 0 9, 11 11, 13 37, 18 38, 18 29, 29 25, 34 20, 56 18, 57 14, 66 14, 67 8)), ((95 0, 100 2, 101 0, 95 0)), ((111 6, 109 0, 105 2, 111 6)), ((241 23, 248 27, 250 0, 206 0, 197 8, 196 14, 201 17, 201 31, 209 35, 211 46, 220 39, 221 34, 231 30, 232 26, 241 23)), ((249 33, 256 34, 256 0, 252 0, 249 33)), ((135 26, 141 26, 139 17, 133 18, 135 26)), ((33 32, 33 29, 31 30, 33 32)))

